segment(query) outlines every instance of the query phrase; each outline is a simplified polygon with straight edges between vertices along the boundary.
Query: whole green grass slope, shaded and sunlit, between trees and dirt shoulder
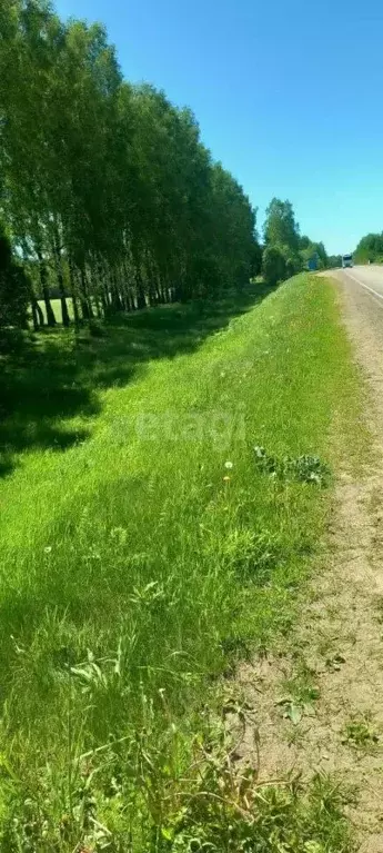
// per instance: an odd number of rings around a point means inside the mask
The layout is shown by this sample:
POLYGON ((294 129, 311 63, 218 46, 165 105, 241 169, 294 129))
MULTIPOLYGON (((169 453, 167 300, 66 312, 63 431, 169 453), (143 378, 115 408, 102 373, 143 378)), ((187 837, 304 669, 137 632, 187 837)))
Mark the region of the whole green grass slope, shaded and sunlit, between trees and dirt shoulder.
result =
MULTIPOLYGON (((283 459, 333 465, 334 423, 355 438, 332 285, 148 310, 97 339, 47 333, 1 383, 1 850, 202 850, 185 826, 210 697, 290 629, 325 525, 329 490, 283 459)), ((209 843, 234 849, 213 817, 209 843)), ((350 850, 342 827, 332 846, 310 832, 284 850, 350 850)), ((288 844, 270 833, 243 850, 288 844)))

